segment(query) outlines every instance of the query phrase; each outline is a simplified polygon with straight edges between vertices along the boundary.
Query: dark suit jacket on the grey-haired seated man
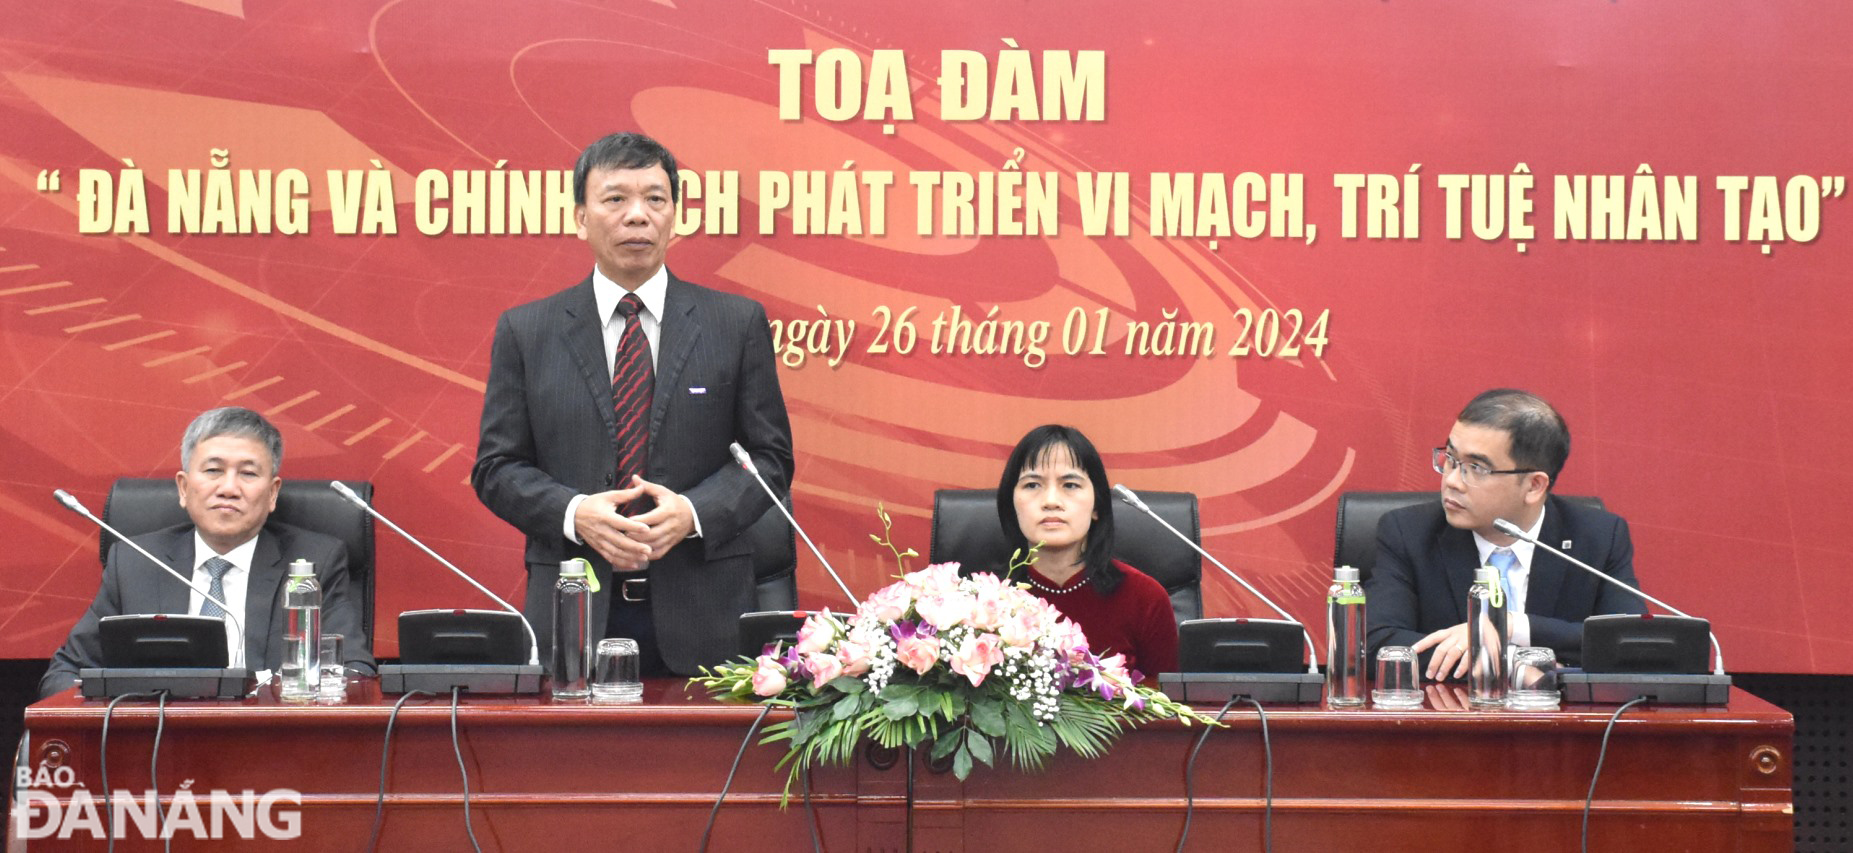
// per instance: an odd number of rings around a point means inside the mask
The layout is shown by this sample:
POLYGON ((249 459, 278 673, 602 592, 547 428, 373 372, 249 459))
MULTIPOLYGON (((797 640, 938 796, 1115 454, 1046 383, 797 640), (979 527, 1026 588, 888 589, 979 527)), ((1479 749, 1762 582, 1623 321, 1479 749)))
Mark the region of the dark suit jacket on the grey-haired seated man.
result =
MULTIPOLYGON (((193 525, 167 527, 135 536, 150 554, 167 560, 174 571, 193 571, 193 525)), ((284 664, 284 577, 289 564, 309 560, 322 584, 322 630, 347 638, 347 666, 371 673, 372 643, 361 629, 359 593, 348 588, 347 545, 334 536, 271 521, 258 532, 258 551, 250 558, 245 586, 245 660, 252 671, 276 671, 284 664)), ((52 695, 78 681, 78 669, 102 666, 98 621, 120 614, 185 614, 191 588, 150 564, 135 549, 115 543, 104 562, 104 582, 96 601, 70 629, 65 645, 39 681, 39 695, 52 695)))

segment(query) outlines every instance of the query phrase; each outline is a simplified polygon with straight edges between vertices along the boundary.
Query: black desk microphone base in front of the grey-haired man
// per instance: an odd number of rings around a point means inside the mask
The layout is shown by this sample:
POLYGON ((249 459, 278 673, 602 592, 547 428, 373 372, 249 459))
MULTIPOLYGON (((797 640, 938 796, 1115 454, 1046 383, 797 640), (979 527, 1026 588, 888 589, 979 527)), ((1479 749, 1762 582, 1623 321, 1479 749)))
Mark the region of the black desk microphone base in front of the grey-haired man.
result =
POLYGON ((104 666, 78 669, 85 699, 161 690, 170 699, 243 699, 258 688, 250 669, 226 666, 226 621, 217 616, 106 616, 96 638, 104 666))

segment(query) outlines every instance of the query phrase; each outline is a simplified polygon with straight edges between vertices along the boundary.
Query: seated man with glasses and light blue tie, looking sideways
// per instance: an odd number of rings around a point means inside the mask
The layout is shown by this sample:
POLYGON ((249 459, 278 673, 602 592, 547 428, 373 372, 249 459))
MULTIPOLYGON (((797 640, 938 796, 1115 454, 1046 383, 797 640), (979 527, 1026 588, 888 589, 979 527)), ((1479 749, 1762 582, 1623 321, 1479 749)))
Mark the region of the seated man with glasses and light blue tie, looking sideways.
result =
POLYGON ((1582 619, 1640 614, 1645 605, 1529 541, 1494 527, 1506 519, 1540 541, 1634 584, 1627 521, 1551 495, 1569 458, 1569 426, 1536 395, 1494 389, 1475 397, 1434 449, 1442 499, 1386 514, 1377 567, 1366 582, 1371 653, 1410 645, 1429 679, 1468 673, 1468 586, 1473 569, 1506 579, 1514 645, 1544 645, 1581 662, 1582 619))

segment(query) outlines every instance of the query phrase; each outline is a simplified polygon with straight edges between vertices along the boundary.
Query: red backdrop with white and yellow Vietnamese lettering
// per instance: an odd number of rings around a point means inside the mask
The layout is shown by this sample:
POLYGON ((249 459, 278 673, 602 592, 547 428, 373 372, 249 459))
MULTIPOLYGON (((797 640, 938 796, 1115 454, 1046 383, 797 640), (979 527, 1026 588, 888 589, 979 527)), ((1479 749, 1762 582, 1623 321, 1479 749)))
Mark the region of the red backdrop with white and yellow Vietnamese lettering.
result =
MULTIPOLYGON (((285 475, 371 478, 384 512, 519 590, 519 536, 467 486, 491 328, 582 278, 589 252, 558 234, 424 236, 415 178, 563 169, 597 135, 637 128, 693 172, 739 178, 737 234, 680 239, 678 274, 760 299, 782 328, 856 321, 836 365, 810 356, 780 376, 799 512, 858 592, 895 571, 867 543, 876 501, 925 551, 934 488, 993 484, 1025 428, 1065 421, 1116 480, 1197 491, 1204 545, 1317 623, 1336 495, 1432 488, 1427 449, 1458 406, 1519 386, 1569 419, 1560 490, 1631 519, 1642 580, 1708 616, 1733 669, 1853 673, 1838 630, 1853 582, 1836 566, 1853 534, 1844 6, 4 7, 4 656, 50 655, 96 586, 95 534, 50 490, 100 506, 117 477, 169 477, 185 423, 226 402, 284 428, 285 475), (1036 69, 1051 50, 1104 52, 1104 113, 943 121, 941 50, 997 70, 1012 45, 1036 69), (901 50, 914 117, 825 119, 806 70, 800 119, 782 121, 767 52, 832 48, 865 70, 901 50), (170 234, 169 169, 209 174, 215 159, 300 169, 308 232, 170 234), (145 174, 150 232, 80 234, 82 171, 120 182, 126 161, 145 174), (393 176, 398 230, 337 234, 326 172, 372 161, 393 176), (1460 195, 1451 237, 1447 176, 1508 187, 1521 163, 1534 187, 1518 224, 1534 232, 1514 239, 1512 217, 1488 215, 1499 234, 1482 239, 1460 195), (1655 187, 1692 178, 1690 232, 1655 239, 1647 223, 1675 206, 1662 193, 1645 208, 1644 167, 1655 187), (763 172, 845 169, 893 172, 886 234, 799 236, 784 213, 762 228, 763 172), (1001 171, 1054 172, 1054 234, 962 237, 938 219, 915 234, 910 174, 1001 171), (1084 234, 1080 172, 1127 172, 1128 236, 1084 234), (1151 236, 1153 172, 1297 174, 1314 239, 1151 236), (1366 172, 1397 187, 1414 174, 1419 236, 1343 236, 1334 176, 1366 172), (1616 176, 1620 239, 1557 237, 1558 176, 1616 176), (1736 239, 1731 176, 1775 187, 1736 197, 1736 239), (1825 187, 1812 208, 1809 185, 1825 187), (952 306, 1049 321, 1047 360, 932 352, 932 319, 952 306), (884 312, 910 308, 915 347, 871 350, 884 312), (1329 312, 1329 343, 1232 358, 1238 310, 1329 312), (1069 315, 1088 321, 1075 356, 1069 315), (1167 319, 1214 325, 1214 354, 1128 354, 1128 321, 1167 319)), ((828 100, 845 95, 862 91, 828 100)), ((806 605, 841 605, 808 554, 800 577, 806 605)), ((1253 612, 1225 579, 1204 586, 1210 616, 1253 612)), ((452 603, 474 597, 380 540, 382 653, 397 649, 391 614, 452 603)))

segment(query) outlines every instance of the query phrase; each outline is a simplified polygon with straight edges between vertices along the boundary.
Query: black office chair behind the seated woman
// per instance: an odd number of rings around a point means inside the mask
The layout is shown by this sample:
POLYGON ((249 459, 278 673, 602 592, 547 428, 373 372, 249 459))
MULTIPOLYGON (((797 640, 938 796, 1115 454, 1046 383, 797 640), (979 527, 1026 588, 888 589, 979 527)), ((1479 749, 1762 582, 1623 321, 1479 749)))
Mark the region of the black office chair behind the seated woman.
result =
MULTIPOLYGON (((1190 491, 1140 491, 1145 504, 1190 541, 1203 541, 1197 495, 1190 491)), ((1112 501, 1112 495, 1097 495, 1112 501)), ((1203 617, 1203 556, 1171 536, 1143 512, 1114 506, 1114 556, 1164 584, 1177 621, 1203 617)), ((938 490, 932 495, 932 541, 928 562, 956 562, 964 571, 1002 571, 1010 543, 997 525, 997 491, 938 490)))

